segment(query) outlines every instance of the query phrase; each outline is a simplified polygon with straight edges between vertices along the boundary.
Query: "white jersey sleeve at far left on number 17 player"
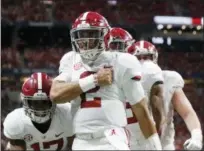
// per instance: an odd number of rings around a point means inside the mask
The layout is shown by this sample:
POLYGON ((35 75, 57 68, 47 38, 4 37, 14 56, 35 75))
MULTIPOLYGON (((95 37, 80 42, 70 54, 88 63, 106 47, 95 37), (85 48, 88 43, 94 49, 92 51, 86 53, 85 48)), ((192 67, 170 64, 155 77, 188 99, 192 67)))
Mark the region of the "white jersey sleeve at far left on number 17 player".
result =
POLYGON ((24 127, 23 124, 21 124, 21 120, 17 110, 9 113, 3 123, 4 135, 9 139, 23 139, 22 133, 24 127))

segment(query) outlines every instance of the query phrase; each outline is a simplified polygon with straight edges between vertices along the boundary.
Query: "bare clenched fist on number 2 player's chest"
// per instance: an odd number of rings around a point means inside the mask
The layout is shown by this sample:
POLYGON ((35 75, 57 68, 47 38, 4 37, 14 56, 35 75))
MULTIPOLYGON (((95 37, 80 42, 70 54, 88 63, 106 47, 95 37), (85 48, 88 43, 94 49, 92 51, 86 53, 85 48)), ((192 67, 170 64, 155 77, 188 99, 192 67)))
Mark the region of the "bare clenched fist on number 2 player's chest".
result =
POLYGON ((113 69, 109 68, 100 68, 96 73, 97 82, 99 86, 111 85, 113 82, 113 69))

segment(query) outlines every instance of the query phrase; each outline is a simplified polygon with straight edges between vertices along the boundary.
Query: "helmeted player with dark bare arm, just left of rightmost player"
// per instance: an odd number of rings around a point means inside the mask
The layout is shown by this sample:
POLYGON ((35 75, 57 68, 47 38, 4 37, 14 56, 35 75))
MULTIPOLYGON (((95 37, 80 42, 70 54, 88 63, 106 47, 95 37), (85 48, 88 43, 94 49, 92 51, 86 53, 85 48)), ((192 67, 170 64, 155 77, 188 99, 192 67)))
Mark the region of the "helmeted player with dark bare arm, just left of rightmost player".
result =
POLYGON ((136 56, 143 69, 142 85, 146 95, 149 98, 150 110, 154 113, 157 130, 165 120, 164 116, 164 93, 163 93, 163 75, 161 68, 155 64, 158 53, 153 44, 148 41, 135 42, 128 49, 128 53, 136 56))

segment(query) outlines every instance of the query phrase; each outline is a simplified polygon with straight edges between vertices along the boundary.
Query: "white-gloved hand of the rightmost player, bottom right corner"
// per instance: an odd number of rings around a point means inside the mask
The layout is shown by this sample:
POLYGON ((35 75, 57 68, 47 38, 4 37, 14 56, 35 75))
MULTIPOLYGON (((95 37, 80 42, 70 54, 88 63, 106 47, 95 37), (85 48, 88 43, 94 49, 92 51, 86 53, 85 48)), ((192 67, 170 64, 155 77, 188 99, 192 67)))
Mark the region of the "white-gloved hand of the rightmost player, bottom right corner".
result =
POLYGON ((185 141, 183 146, 185 150, 201 150, 203 144, 200 140, 190 138, 185 141))

